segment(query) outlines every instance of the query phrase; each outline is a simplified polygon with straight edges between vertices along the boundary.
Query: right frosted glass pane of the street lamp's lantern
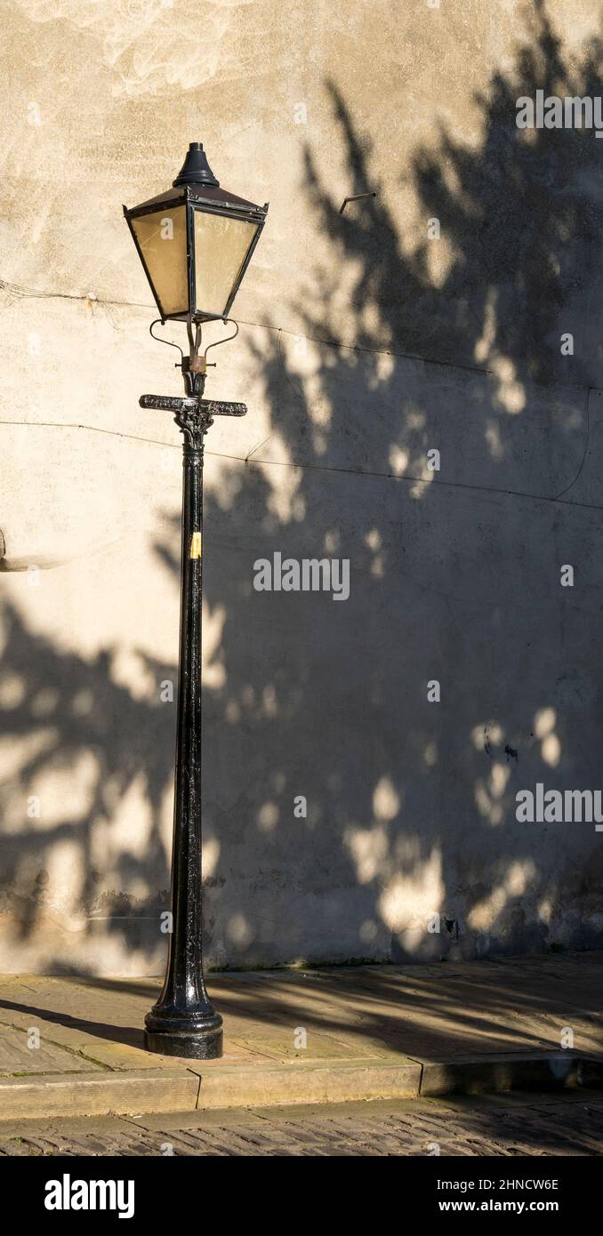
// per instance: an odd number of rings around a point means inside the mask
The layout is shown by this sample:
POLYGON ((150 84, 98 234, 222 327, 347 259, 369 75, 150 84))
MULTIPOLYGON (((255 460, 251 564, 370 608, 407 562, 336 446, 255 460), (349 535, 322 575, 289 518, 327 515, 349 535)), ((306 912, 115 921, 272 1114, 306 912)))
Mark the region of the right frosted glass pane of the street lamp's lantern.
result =
POLYGON ((220 318, 236 289, 258 225, 247 219, 194 211, 195 309, 220 318))

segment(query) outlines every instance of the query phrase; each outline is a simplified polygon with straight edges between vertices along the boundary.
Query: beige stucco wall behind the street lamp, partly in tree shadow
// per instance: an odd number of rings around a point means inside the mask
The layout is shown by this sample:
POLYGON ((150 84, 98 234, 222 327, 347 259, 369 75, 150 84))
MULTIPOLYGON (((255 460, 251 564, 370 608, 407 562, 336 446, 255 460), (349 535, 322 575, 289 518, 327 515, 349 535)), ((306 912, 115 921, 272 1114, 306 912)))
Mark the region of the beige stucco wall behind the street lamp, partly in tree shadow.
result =
POLYGON ((121 205, 192 140, 271 201, 208 384, 250 407, 206 456, 210 962, 601 941, 603 834, 514 818, 535 781, 601 785, 603 143, 519 146, 513 108, 594 85, 598 31, 591 4, 546 14, 5 14, 5 969, 162 967, 180 461, 138 396, 179 386, 121 205), (253 592, 273 550, 348 557, 350 601, 253 592))

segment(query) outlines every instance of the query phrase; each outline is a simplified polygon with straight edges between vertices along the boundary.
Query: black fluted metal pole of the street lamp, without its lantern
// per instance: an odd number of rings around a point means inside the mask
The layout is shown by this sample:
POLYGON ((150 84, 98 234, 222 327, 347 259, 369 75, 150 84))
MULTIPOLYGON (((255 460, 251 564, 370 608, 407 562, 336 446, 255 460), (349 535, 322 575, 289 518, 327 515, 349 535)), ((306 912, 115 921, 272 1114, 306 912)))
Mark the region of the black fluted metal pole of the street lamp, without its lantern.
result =
MULTIPOLYGON (((200 382, 196 393, 203 393, 200 382)), ((172 932, 163 991, 145 1018, 145 1046, 206 1060, 222 1054, 222 1018, 209 1000, 201 955, 203 440, 211 405, 169 403, 179 405, 174 419, 184 435, 172 932)))

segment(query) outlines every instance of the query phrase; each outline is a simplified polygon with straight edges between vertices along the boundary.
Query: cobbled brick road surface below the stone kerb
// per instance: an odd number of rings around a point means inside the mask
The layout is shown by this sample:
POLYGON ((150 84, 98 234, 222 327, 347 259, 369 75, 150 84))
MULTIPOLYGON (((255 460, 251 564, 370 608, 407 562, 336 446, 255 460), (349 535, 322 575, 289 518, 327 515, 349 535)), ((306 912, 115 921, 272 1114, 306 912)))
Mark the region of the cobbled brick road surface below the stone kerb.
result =
POLYGON ((603 1154, 603 1096, 337 1104, 0 1125, 0 1156, 603 1154))

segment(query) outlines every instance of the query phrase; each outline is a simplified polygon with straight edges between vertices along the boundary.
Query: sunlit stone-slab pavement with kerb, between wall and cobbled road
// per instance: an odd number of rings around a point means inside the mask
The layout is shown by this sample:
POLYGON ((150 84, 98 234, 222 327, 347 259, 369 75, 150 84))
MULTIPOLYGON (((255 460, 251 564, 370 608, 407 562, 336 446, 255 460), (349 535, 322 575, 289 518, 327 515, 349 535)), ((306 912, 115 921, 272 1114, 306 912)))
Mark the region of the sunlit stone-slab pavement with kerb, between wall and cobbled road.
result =
POLYGON ((0 979, 0 1120, 603 1083, 603 953, 211 974, 221 1060, 145 1052, 159 980, 0 979))

